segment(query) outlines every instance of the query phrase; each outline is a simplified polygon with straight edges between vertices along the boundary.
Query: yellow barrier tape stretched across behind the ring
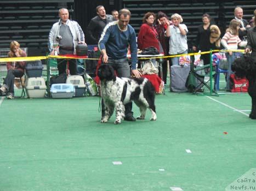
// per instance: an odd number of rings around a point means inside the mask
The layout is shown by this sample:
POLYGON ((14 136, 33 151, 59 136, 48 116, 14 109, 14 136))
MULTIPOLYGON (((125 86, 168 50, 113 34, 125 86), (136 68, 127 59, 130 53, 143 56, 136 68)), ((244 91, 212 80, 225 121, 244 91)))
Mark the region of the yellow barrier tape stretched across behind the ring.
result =
MULTIPOLYGON (((138 59, 158 59, 158 58, 174 58, 181 56, 194 56, 194 55, 204 55, 210 53, 211 51, 206 52, 194 52, 194 53, 184 53, 180 55, 171 55, 171 56, 157 56, 157 57, 140 57, 138 59)), ((244 52, 244 50, 212 50, 212 52, 244 52)), ((96 59, 99 58, 74 58, 69 56, 31 56, 31 57, 13 57, 13 58, 0 58, 0 62, 22 62, 22 61, 36 61, 38 59, 48 59, 48 58, 69 58, 69 59, 96 59)))

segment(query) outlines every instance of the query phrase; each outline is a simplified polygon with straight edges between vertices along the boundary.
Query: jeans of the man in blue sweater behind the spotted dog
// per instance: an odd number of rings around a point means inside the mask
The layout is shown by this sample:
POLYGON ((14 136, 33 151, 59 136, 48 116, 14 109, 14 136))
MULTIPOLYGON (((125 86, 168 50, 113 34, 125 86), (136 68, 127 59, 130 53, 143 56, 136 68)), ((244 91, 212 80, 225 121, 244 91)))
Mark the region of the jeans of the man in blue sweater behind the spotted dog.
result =
MULTIPOLYGON (((109 59, 108 63, 110 64, 113 69, 116 71, 118 77, 130 77, 130 67, 128 63, 128 58, 122 58, 122 59, 109 59)), ((126 109, 125 115, 126 117, 133 116, 132 108, 133 103, 130 102, 126 105, 124 105, 124 108, 126 109)), ((101 100, 101 116, 105 115, 105 106, 103 100, 101 100)))

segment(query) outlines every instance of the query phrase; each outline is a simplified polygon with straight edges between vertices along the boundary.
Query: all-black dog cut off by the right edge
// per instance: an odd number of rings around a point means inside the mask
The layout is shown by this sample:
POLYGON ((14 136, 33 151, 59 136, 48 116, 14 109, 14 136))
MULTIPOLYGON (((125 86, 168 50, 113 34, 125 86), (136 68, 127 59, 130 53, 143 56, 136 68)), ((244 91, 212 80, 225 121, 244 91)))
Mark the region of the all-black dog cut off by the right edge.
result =
POLYGON ((236 58, 231 67, 238 77, 246 77, 249 81, 248 93, 252 98, 252 111, 249 115, 253 120, 256 119, 256 63, 251 57, 244 56, 236 58))

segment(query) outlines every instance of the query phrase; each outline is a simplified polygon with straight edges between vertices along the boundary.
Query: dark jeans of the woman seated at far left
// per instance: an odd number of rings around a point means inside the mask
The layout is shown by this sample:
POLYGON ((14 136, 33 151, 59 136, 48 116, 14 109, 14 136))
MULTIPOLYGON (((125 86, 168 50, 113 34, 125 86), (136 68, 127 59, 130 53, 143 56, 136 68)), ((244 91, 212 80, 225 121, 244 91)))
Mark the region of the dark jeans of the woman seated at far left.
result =
POLYGON ((4 79, 3 86, 7 88, 7 92, 14 96, 14 78, 24 75, 21 70, 8 70, 7 76, 4 79))

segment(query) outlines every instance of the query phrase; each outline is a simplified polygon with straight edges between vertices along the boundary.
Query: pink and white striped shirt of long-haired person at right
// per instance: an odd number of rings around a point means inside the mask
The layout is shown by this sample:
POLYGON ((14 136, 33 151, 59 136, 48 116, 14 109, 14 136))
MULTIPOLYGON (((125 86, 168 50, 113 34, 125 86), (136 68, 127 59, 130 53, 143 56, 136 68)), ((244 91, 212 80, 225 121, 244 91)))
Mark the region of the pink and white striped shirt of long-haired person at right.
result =
POLYGON ((241 39, 238 35, 232 34, 231 32, 226 32, 221 39, 221 44, 226 50, 237 50, 239 43, 241 43, 241 39))

